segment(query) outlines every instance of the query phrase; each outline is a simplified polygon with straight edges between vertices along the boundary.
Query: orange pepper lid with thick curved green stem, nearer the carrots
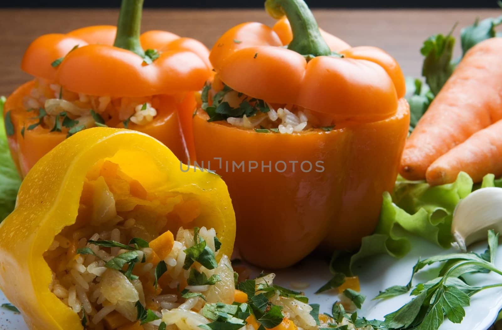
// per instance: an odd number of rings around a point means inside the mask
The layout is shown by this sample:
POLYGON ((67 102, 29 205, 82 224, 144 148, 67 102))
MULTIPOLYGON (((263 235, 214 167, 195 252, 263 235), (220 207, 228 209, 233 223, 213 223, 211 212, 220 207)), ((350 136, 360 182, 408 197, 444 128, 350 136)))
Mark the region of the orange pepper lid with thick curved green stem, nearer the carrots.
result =
POLYGON ((406 87, 393 57, 375 47, 350 48, 320 32, 303 0, 267 0, 265 8, 281 19, 273 29, 243 23, 213 46, 209 60, 226 85, 340 121, 370 122, 396 113, 406 87))

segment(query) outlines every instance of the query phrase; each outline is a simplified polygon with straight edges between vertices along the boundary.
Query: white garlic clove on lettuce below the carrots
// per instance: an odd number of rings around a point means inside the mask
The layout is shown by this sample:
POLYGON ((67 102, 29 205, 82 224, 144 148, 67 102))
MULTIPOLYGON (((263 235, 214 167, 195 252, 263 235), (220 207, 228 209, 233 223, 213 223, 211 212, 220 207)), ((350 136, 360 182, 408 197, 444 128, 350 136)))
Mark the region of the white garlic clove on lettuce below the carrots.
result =
POLYGON ((502 188, 481 188, 462 199, 453 212, 452 246, 463 252, 472 243, 486 239, 486 232, 502 232, 502 188))

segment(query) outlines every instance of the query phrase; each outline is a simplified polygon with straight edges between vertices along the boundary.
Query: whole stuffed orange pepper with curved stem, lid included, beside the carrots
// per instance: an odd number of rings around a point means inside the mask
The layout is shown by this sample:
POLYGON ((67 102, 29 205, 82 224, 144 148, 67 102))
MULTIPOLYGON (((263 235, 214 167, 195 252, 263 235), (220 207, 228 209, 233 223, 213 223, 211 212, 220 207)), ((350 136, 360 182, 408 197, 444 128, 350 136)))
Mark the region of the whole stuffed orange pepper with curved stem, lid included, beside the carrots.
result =
POLYGON ((302 0, 265 6, 281 19, 274 29, 244 23, 212 48, 216 76, 193 130, 196 165, 228 184, 241 256, 279 268, 371 234, 397 176, 409 106, 389 54, 320 33, 302 0))

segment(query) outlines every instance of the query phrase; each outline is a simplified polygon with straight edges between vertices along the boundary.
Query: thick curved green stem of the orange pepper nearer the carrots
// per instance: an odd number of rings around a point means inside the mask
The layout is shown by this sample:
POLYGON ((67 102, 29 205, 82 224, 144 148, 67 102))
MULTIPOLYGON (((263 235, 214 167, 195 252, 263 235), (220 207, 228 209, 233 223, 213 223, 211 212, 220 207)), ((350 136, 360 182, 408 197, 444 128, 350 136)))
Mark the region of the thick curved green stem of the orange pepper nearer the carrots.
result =
POLYGON ((303 0, 266 0, 265 9, 275 19, 284 15, 288 18, 293 31, 293 40, 288 49, 302 55, 331 55, 314 15, 303 0))

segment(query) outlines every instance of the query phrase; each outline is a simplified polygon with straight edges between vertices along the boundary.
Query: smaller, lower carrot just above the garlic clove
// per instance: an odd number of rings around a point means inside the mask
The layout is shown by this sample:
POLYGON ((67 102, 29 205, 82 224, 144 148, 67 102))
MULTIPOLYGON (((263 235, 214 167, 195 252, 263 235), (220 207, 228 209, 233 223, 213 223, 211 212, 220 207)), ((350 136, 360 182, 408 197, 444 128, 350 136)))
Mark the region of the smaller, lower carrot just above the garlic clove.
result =
POLYGON ((425 176, 429 184, 437 185, 455 181, 460 171, 469 174, 474 182, 488 173, 502 175, 502 120, 439 157, 425 176))

